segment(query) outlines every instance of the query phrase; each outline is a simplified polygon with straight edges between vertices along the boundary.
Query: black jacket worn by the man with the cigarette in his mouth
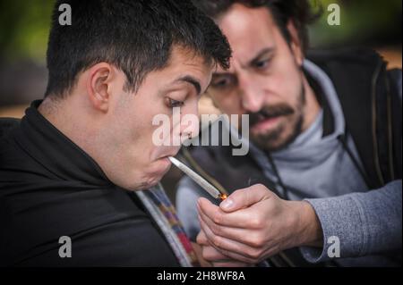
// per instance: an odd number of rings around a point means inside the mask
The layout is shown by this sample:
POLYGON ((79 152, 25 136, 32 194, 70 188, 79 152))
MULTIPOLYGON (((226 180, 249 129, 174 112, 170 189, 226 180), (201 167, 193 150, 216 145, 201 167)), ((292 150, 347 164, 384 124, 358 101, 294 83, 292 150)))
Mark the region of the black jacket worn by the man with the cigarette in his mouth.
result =
POLYGON ((178 266, 140 200, 36 106, 0 119, 0 266, 178 266), (59 256, 63 236, 71 258, 59 256))

